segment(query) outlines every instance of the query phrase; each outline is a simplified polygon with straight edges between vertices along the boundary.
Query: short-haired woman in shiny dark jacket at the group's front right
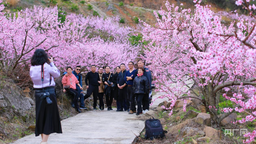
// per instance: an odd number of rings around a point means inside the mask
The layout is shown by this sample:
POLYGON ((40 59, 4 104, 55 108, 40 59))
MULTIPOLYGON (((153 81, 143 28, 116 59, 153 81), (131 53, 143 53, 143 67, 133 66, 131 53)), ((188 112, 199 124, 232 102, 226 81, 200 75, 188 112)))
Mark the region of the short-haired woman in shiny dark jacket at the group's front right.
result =
POLYGON ((138 68, 138 74, 133 80, 133 86, 132 89, 134 91, 136 101, 137 101, 137 114, 136 115, 141 115, 142 113, 142 99, 145 96, 148 97, 149 95, 149 81, 148 79, 143 75, 144 68, 139 67, 138 68))

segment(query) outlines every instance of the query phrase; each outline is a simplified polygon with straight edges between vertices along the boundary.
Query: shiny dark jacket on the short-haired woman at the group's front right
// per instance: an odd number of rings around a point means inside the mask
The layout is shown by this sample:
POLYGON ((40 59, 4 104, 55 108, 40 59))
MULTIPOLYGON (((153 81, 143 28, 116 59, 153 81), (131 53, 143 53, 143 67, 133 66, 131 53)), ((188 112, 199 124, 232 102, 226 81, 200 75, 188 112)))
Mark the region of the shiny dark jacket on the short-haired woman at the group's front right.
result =
POLYGON ((148 79, 142 75, 142 76, 136 76, 133 80, 133 85, 132 85, 133 92, 135 94, 140 94, 140 93, 149 93, 149 81, 148 79))

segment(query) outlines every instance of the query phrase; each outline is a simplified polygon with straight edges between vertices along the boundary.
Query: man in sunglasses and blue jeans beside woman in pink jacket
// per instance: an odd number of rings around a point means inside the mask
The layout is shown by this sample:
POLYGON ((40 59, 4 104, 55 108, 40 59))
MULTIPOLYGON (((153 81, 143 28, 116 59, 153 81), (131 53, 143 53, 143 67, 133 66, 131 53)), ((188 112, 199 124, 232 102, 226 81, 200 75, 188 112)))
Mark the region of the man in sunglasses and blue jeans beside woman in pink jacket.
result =
MULTIPOLYGON (((81 66, 76 66, 76 69, 72 71, 72 73, 76 76, 77 80, 79 81, 79 84, 82 86, 82 75, 81 75, 81 66)), ((63 73, 65 76, 68 76, 67 72, 63 73)), ((76 91, 78 92, 78 98, 80 98, 80 109, 87 109, 84 107, 84 95, 83 90, 80 89, 80 87, 76 84, 76 91)), ((72 107, 75 107, 74 104, 71 105, 72 107)))

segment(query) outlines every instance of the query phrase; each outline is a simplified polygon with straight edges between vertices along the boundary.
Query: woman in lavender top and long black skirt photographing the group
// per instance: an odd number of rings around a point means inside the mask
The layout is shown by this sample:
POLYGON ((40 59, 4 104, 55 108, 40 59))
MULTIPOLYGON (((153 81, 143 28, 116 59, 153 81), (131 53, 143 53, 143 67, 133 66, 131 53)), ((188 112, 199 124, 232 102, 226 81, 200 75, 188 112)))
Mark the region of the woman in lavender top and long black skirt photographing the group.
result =
POLYGON ((41 144, 47 144, 51 133, 62 133, 60 114, 57 106, 54 78, 60 71, 53 58, 43 49, 37 49, 31 58, 30 77, 35 88, 36 98, 36 137, 41 134, 41 144))

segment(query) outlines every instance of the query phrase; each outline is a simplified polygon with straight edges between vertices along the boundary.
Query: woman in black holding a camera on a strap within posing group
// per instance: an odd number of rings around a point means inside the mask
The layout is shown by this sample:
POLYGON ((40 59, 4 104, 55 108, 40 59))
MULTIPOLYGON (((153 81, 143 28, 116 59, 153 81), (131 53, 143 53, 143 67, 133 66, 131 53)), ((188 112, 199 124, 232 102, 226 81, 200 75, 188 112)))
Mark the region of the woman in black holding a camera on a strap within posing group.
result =
POLYGON ((107 110, 113 110, 112 109, 112 102, 113 102, 113 97, 114 97, 114 92, 113 90, 111 90, 111 85, 113 85, 113 73, 110 73, 110 67, 109 66, 105 66, 105 70, 106 72, 103 73, 102 75, 102 81, 103 83, 105 84, 105 87, 104 87, 104 93, 105 93, 105 96, 106 96, 106 103, 107 103, 107 110))

